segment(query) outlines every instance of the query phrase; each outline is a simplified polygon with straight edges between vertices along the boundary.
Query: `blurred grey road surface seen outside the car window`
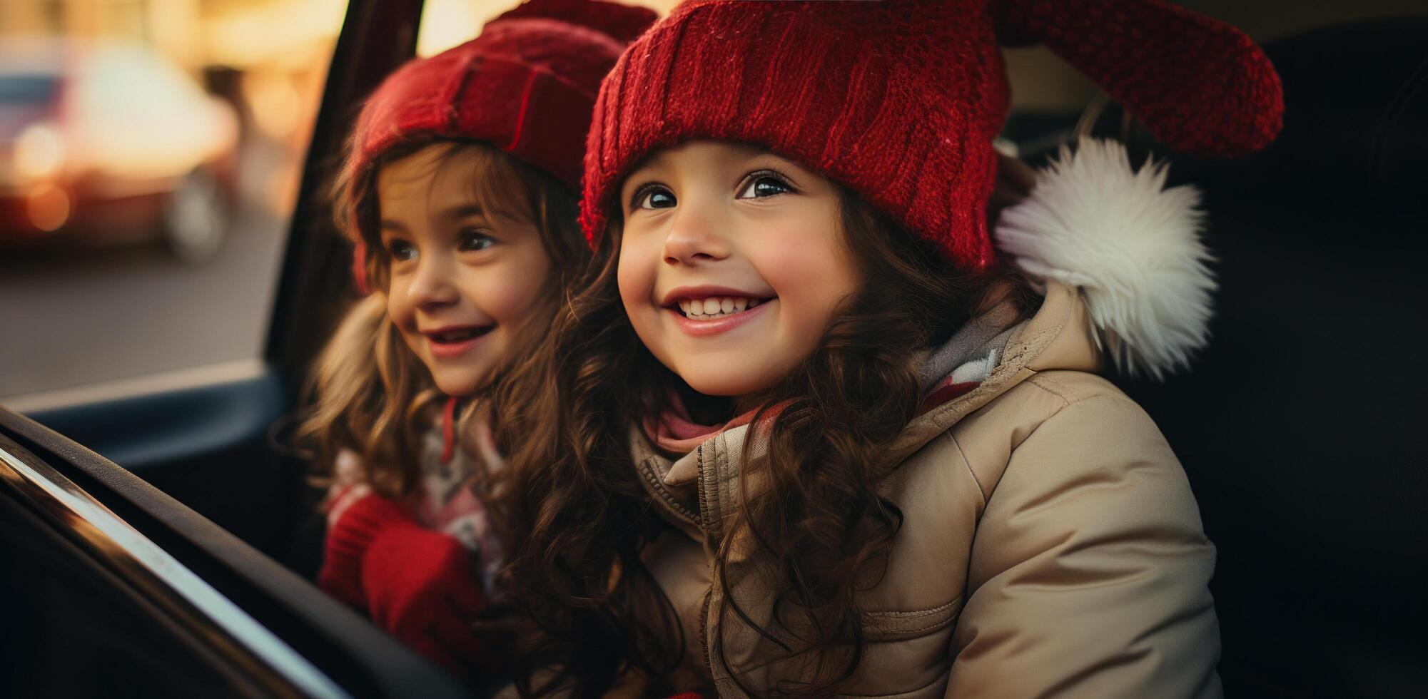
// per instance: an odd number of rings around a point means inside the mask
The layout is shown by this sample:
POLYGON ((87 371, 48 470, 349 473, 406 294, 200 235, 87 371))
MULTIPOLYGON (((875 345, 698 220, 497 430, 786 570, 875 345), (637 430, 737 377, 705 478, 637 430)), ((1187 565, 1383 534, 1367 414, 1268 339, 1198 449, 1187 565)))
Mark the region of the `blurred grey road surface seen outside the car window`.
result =
POLYGON ((258 357, 283 224, 236 215, 204 265, 157 245, 0 260, 0 394, 258 357))

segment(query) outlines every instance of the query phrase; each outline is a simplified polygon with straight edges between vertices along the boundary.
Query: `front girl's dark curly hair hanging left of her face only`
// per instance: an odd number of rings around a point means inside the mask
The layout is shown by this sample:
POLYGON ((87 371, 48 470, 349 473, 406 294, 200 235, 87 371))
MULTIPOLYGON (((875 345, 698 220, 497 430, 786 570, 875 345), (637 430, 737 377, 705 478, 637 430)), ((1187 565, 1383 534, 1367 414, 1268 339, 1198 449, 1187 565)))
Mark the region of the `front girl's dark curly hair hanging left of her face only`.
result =
POLYGON ((683 656, 677 616, 640 561, 660 524, 628 465, 627 401, 657 382, 620 304, 615 251, 601 243, 545 342, 493 392, 507 459, 487 505, 508 552, 503 586, 524 612, 513 633, 524 696, 597 696, 683 656))

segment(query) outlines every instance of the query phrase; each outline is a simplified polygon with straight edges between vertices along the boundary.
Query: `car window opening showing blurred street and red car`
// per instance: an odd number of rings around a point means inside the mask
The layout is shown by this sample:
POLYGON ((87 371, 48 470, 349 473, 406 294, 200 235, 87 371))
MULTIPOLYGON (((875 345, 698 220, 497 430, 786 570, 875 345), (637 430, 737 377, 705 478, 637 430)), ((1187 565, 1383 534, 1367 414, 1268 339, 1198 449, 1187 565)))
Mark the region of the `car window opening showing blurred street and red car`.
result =
POLYGON ((0 13, 0 402, 257 364, 344 13, 0 13))

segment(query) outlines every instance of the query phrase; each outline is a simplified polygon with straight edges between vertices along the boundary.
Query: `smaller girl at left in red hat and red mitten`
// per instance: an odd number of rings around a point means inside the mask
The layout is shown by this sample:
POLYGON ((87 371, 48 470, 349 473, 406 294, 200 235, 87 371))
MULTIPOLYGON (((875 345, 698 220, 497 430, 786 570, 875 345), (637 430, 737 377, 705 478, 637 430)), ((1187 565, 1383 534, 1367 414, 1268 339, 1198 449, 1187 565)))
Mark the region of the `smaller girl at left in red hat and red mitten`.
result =
POLYGON ((316 372, 301 437, 333 471, 318 583, 458 673, 497 653, 501 465, 484 395, 544 332, 588 260, 577 215, 600 80, 654 20, 530 0, 394 71, 367 100, 334 191, 371 294, 316 372), (457 427, 471 434, 458 445, 457 427))

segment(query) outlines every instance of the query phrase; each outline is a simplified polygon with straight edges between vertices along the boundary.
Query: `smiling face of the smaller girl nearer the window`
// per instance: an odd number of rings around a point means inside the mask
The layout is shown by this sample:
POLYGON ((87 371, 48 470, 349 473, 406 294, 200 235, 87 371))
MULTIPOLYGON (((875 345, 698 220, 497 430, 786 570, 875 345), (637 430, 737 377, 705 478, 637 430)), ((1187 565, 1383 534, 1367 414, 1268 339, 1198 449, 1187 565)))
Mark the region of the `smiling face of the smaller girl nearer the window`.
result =
POLYGON ((491 379, 550 271, 534 223, 481 208, 477 163, 437 144, 377 173, 387 315, 447 395, 491 379))

